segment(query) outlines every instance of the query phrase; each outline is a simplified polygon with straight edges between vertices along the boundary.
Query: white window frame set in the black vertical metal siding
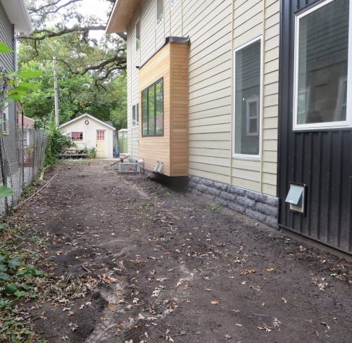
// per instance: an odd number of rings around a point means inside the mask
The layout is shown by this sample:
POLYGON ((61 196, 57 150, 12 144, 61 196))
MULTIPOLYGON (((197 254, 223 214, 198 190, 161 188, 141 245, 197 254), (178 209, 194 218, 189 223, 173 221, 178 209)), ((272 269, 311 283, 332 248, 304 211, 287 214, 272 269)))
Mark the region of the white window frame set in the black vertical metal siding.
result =
MULTIPOLYGON (((312 124, 298 124, 298 60, 299 60, 299 21, 306 15, 317 11, 319 8, 332 3, 335 0, 325 0, 311 7, 306 11, 296 15, 295 18, 295 42, 294 42, 294 115, 293 129, 294 131, 314 131, 319 129, 338 129, 352 127, 352 98, 347 97, 346 105, 346 121, 344 122, 324 122, 312 124)), ((348 21, 348 76, 347 76, 347 94, 352 94, 352 0, 349 7, 348 21)))

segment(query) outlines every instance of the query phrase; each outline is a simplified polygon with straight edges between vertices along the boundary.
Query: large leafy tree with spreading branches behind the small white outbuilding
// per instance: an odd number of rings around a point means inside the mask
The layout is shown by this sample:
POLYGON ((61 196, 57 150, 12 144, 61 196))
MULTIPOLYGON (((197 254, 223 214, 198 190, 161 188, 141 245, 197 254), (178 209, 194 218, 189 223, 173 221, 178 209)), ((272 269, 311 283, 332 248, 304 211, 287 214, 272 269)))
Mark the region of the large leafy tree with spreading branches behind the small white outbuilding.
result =
MULTIPOLYGON (((108 1, 113 4, 114 1, 108 1)), ((84 112, 127 126, 125 37, 90 32, 104 30, 101 20, 82 16, 82 0, 27 0, 34 31, 20 39, 19 65, 40 70, 37 89, 23 101, 25 113, 45 119, 54 112, 53 58, 57 60, 59 119, 66 122, 84 112)), ((108 14, 108 13, 107 13, 108 14)))

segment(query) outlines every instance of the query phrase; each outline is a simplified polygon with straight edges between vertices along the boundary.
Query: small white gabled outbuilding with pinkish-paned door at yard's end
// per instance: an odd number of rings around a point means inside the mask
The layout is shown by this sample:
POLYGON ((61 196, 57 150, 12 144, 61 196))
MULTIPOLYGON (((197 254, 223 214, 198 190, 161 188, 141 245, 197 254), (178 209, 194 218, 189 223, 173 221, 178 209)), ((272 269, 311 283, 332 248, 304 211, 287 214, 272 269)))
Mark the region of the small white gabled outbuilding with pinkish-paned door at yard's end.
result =
POLYGON ((96 148, 96 157, 113 158, 115 128, 112 122, 102 122, 92 115, 84 114, 58 128, 70 135, 78 148, 96 148))

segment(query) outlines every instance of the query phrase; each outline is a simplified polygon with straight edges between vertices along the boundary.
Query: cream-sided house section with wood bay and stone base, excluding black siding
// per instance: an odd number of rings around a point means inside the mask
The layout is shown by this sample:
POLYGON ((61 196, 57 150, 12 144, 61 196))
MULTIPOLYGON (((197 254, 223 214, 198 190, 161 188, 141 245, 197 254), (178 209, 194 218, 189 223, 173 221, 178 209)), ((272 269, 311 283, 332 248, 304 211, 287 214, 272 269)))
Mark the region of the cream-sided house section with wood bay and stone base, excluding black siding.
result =
POLYGON ((117 0, 129 153, 277 226, 279 0, 117 0), (161 83, 161 85, 159 85, 161 83))

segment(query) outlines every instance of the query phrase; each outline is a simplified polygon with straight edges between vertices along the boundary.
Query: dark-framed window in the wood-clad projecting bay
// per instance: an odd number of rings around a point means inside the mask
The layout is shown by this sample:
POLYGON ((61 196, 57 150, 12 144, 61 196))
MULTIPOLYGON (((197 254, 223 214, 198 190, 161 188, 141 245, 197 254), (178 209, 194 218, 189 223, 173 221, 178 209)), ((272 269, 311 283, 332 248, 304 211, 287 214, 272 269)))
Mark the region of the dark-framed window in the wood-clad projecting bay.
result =
POLYGON ((142 136, 163 136, 163 79, 142 91, 142 136))

